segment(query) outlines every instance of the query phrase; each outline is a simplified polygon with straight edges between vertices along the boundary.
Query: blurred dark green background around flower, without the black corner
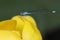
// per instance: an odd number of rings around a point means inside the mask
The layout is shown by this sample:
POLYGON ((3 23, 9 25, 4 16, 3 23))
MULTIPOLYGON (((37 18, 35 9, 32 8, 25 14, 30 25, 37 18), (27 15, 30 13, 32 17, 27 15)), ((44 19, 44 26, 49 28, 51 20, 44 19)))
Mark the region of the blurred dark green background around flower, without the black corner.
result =
POLYGON ((60 24, 60 1, 59 0, 0 0, 0 20, 6 20, 14 15, 18 15, 21 11, 31 11, 41 8, 48 10, 55 9, 55 14, 34 14, 38 28, 42 35, 46 30, 53 30, 55 26, 60 24))

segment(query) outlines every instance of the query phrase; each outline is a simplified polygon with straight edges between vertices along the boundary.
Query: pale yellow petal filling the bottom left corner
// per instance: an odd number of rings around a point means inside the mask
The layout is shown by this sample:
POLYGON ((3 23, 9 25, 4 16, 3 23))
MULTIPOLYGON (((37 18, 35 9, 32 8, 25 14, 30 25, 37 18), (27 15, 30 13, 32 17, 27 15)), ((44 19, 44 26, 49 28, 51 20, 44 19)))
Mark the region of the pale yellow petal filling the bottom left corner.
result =
POLYGON ((21 40, 17 31, 0 30, 0 40, 21 40))

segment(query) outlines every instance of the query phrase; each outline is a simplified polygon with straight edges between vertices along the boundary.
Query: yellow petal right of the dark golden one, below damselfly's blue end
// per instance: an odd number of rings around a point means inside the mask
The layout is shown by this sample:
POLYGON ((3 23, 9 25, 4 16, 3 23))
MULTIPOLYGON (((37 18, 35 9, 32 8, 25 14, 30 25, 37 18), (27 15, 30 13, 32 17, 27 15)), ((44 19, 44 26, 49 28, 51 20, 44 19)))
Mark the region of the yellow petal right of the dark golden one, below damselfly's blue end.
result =
POLYGON ((24 26, 24 21, 22 16, 18 15, 18 16, 14 16, 12 17, 12 20, 16 20, 17 24, 16 24, 16 29, 22 31, 23 26, 24 26))

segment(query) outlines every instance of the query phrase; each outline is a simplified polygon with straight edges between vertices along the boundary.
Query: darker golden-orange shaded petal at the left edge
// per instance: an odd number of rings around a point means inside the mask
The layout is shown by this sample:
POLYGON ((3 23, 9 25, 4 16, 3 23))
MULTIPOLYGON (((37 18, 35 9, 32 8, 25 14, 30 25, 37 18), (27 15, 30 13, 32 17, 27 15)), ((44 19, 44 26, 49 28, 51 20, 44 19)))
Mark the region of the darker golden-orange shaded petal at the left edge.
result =
POLYGON ((15 30, 16 21, 15 20, 5 20, 0 22, 0 30, 15 30))

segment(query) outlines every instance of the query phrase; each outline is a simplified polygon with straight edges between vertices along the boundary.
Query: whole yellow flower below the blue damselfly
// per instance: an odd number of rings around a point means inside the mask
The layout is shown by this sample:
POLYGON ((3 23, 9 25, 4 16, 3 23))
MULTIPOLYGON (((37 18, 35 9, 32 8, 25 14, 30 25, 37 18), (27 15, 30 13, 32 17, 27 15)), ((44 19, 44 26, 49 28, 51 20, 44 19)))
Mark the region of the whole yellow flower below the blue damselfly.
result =
POLYGON ((14 16, 0 22, 0 40, 42 40, 42 35, 31 16, 14 16))

